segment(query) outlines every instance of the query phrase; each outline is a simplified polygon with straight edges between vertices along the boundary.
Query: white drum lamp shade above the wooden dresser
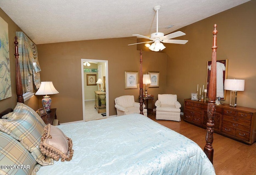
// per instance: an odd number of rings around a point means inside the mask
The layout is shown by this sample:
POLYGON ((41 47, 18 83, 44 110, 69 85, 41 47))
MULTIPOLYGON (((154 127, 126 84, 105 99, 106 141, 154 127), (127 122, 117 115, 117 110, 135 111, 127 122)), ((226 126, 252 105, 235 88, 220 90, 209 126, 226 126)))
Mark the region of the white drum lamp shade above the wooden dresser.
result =
POLYGON ((224 89, 234 91, 244 91, 244 80, 226 79, 224 89))

